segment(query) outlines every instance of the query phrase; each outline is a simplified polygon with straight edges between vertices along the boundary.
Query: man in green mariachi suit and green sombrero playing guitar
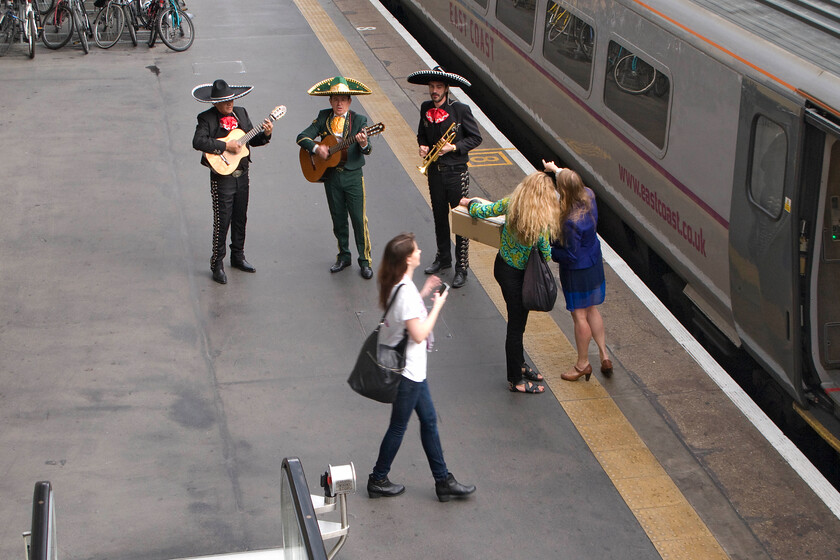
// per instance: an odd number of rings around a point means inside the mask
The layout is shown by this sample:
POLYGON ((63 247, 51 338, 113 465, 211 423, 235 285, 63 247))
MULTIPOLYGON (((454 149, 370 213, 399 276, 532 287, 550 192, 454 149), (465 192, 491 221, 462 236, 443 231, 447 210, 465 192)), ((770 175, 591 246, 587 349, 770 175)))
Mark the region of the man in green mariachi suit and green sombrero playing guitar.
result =
POLYGON ((333 222, 333 234, 338 241, 338 255, 330 272, 341 272, 350 266, 350 229, 347 224, 349 215, 353 224, 353 236, 356 249, 359 252, 358 262, 362 278, 373 278, 370 256, 370 235, 368 233, 367 216, 365 215, 365 179, 362 166, 365 156, 370 155, 371 145, 368 143, 367 133, 363 130, 367 126, 367 118, 350 110, 354 95, 368 95, 371 90, 363 83, 336 76, 318 82, 307 92, 309 95, 328 95, 330 109, 318 113, 306 129, 298 134, 297 143, 313 158, 326 160, 329 158, 329 147, 321 142, 329 136, 336 140, 352 138, 352 142, 342 154, 342 161, 335 167, 328 167, 322 181, 327 195, 327 205, 333 222))

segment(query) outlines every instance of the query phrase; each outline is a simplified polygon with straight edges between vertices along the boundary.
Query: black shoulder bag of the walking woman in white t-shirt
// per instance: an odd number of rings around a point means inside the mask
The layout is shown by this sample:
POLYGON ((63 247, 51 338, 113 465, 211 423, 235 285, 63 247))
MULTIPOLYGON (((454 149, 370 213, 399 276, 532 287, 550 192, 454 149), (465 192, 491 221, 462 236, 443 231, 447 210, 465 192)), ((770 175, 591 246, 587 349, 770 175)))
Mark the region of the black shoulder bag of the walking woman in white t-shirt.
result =
POLYGON ((397 391, 400 388, 402 372, 405 369, 405 349, 408 346, 408 331, 403 332, 403 338, 396 346, 379 344, 379 331, 385 323, 385 316, 391 309, 394 300, 403 284, 397 287, 394 297, 388 304, 379 325, 368 335, 359 357, 356 358, 356 366, 350 373, 347 383, 350 388, 369 399, 375 401, 392 403, 397 398, 397 391))

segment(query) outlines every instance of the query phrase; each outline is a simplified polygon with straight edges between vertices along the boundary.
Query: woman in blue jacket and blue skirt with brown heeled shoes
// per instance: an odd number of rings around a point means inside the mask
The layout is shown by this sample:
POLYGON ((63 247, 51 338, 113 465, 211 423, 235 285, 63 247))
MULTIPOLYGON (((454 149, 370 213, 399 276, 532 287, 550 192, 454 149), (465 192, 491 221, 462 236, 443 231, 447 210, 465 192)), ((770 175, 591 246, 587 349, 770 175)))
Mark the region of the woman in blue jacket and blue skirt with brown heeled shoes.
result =
POLYGON ((604 321, 597 305, 604 303, 606 282, 601 243, 595 228, 598 207, 595 193, 583 184, 580 175, 571 169, 561 169, 553 161, 543 161, 546 172, 554 173, 560 197, 560 236, 551 242, 551 259, 560 263, 560 285, 566 299, 566 309, 575 325, 577 362, 560 375, 566 381, 585 377, 589 381, 589 340, 595 339, 601 359, 601 373, 612 374, 612 362, 607 355, 604 321))

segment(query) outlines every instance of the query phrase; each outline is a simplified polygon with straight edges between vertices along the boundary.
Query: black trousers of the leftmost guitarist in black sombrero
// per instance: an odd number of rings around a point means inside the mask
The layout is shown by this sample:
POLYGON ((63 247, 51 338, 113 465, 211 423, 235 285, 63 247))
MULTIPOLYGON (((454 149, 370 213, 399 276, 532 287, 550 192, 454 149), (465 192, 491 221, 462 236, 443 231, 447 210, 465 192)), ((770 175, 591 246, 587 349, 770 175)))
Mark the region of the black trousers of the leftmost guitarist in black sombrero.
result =
POLYGON ((239 177, 210 174, 210 195, 213 198, 213 256, 210 269, 215 270, 225 258, 225 240, 230 230, 230 258, 245 258, 245 223, 248 220, 248 170, 239 177))

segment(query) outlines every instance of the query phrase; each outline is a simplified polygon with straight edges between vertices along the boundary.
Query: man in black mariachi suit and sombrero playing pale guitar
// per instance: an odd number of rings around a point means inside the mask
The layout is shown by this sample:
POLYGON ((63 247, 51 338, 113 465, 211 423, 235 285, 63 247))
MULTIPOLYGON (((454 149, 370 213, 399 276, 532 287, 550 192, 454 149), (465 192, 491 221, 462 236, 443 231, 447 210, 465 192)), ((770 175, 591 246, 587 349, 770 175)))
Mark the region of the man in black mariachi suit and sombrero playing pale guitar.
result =
MULTIPOLYGON (((193 89, 193 97, 213 106, 198 115, 193 136, 193 148, 203 152, 201 164, 210 167, 204 153, 221 155, 226 151, 237 154, 242 150, 236 140, 221 140, 239 128, 249 132, 253 126, 244 107, 234 107, 234 99, 248 95, 253 86, 229 86, 224 80, 203 84, 193 89)), ((272 124, 263 122, 263 130, 248 142, 248 146, 263 146, 271 139, 272 124)), ((245 260, 245 223, 248 219, 248 164, 251 156, 243 157, 230 175, 219 175, 210 170, 210 195, 213 198, 213 255, 210 270, 213 280, 227 284, 223 260, 225 240, 230 229, 230 265, 245 272, 257 269, 245 260)))

